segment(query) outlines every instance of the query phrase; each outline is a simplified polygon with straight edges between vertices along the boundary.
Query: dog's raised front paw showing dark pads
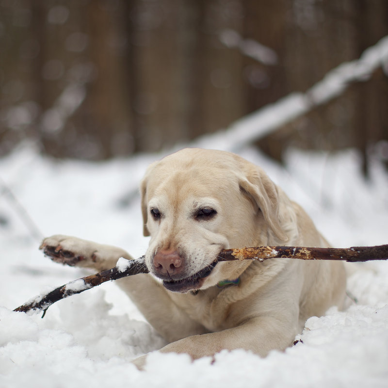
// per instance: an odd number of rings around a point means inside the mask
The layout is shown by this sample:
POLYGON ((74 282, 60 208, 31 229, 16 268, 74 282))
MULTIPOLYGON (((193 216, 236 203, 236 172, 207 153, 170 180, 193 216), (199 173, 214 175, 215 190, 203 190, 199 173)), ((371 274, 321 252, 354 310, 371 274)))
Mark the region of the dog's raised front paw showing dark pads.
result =
POLYGON ((96 261, 94 249, 90 245, 88 241, 57 234, 44 239, 39 249, 56 263, 83 266, 88 261, 96 261))

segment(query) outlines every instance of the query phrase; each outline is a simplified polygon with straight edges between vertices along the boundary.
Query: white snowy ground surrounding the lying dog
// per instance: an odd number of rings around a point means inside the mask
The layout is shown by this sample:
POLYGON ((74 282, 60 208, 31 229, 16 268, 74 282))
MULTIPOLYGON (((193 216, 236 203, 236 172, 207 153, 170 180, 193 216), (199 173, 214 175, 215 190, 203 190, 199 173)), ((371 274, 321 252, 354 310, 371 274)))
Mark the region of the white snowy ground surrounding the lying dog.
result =
MULTIPOLYGON (((290 151, 286 168, 244 148, 301 203, 332 245, 388 243, 388 176, 373 162, 367 183, 354 151, 290 151)), ((357 264, 346 311, 310 318, 297 343, 265 359, 237 350, 192 363, 186 355, 149 356, 139 372, 130 359, 163 340, 114 283, 49 308, 44 319, 12 310, 84 275, 37 250, 43 235, 71 234, 144 254, 137 185, 160 155, 105 163, 58 162, 24 147, 0 160, 0 387, 387 387, 388 262, 357 264), (3 183, 0 184, 3 185, 3 183)))

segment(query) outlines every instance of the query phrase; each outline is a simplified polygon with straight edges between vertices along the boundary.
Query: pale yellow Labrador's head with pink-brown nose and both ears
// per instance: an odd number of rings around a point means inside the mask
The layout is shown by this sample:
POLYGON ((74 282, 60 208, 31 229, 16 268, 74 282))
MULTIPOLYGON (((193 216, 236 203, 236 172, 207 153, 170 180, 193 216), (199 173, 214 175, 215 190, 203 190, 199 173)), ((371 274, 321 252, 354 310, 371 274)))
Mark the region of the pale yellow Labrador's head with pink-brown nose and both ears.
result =
POLYGON ((146 265, 170 291, 235 279, 250 264, 220 262, 225 248, 286 240, 275 184, 224 151, 186 148, 153 163, 141 183, 146 265), (217 264, 217 265, 216 265, 217 264))

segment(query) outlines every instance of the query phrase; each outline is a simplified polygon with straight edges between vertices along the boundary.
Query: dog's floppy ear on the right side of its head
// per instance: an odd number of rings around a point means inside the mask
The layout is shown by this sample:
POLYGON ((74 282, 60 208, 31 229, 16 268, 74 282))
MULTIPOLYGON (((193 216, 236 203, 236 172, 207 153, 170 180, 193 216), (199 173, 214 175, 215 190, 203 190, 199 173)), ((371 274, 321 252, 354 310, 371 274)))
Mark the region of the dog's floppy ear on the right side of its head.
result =
POLYGON ((275 236, 286 241, 287 235, 279 220, 279 194, 275 183, 261 168, 252 166, 240 177, 239 185, 242 194, 261 210, 275 236))

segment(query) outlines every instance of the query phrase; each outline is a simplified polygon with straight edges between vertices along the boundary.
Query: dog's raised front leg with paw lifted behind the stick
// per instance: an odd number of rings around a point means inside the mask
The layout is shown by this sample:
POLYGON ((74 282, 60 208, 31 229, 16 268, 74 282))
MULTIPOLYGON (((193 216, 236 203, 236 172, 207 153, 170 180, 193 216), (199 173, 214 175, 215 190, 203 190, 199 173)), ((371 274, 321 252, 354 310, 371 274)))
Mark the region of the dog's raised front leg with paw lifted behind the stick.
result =
MULTIPOLYGON (((97 271, 113 268, 120 257, 132 259, 121 248, 64 235, 44 239, 41 249, 55 262, 97 271)), ((207 331, 179 309, 168 291, 151 275, 128 276, 116 280, 116 284, 129 295, 146 320, 168 341, 207 331)))

